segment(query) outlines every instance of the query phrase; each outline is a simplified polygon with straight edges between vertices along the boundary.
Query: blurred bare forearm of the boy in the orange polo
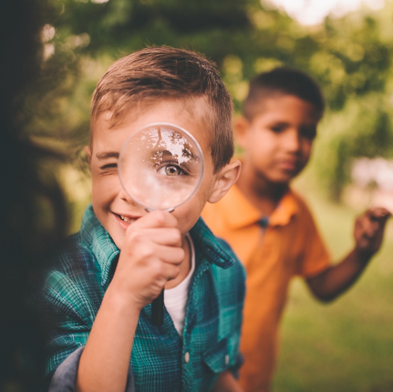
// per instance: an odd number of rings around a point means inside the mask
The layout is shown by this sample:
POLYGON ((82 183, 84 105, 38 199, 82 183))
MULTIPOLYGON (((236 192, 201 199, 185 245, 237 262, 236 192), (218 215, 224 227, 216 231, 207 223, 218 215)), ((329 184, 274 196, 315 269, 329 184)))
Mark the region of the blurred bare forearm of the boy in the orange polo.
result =
POLYGON ((310 290, 321 301, 334 300, 359 278, 371 257, 354 249, 336 265, 307 279, 310 290))

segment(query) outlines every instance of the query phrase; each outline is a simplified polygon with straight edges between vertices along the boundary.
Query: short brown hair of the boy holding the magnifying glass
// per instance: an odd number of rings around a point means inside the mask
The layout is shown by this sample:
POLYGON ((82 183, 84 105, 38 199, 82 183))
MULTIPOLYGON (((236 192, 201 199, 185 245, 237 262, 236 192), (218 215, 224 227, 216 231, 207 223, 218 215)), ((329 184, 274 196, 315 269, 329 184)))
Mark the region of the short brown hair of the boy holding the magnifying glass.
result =
POLYGON ((211 155, 218 172, 234 152, 232 100, 215 65, 195 52, 149 47, 115 61, 94 91, 91 127, 105 111, 112 112, 114 125, 131 105, 199 97, 211 106, 211 155))

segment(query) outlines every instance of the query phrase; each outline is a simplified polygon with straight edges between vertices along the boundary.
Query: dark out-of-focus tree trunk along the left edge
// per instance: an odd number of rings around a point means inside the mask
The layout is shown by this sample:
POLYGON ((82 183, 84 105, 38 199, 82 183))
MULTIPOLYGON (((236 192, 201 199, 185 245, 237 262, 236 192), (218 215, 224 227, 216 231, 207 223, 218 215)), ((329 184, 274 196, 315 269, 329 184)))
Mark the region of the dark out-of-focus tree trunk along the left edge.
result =
POLYGON ((45 328, 29 301, 48 252, 67 233, 66 200, 56 178, 62 157, 33 138, 39 134, 40 93, 48 95, 59 75, 56 69, 41 74, 41 32, 51 12, 44 0, 0 3, 0 391, 4 392, 44 388, 45 328), (26 366, 22 352, 33 358, 26 366))

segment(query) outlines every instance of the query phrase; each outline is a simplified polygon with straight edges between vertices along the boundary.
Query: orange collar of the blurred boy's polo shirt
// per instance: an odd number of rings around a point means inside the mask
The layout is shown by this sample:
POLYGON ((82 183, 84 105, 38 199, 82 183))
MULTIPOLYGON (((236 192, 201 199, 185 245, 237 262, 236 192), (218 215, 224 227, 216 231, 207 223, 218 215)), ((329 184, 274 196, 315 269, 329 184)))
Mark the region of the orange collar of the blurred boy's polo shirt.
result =
MULTIPOLYGON (((253 225, 263 218, 260 211, 244 196, 239 188, 234 185, 221 201, 228 206, 227 211, 236 206, 236 213, 225 217, 226 224, 232 229, 253 225)), ((282 196, 279 205, 269 216, 269 226, 280 226, 288 224, 292 217, 298 213, 298 206, 292 190, 282 196)))

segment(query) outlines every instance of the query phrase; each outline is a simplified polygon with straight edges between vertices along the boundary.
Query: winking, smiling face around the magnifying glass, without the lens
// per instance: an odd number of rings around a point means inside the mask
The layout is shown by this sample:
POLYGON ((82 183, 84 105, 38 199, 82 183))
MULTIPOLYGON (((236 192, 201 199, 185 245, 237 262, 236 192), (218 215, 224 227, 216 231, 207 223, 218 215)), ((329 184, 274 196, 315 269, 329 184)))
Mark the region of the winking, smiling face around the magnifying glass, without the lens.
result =
POLYGON ((128 136, 147 124, 176 124, 189 131, 198 141, 205 165, 202 183, 197 193, 172 213, 179 222, 182 234, 187 233, 197 222, 211 195, 216 178, 213 174, 209 129, 202 120, 203 113, 207 110, 206 105, 202 99, 193 101, 192 105, 184 101, 162 101, 143 112, 130 113, 121 124, 113 128, 110 127, 110 113, 98 116, 93 128, 92 151, 88 151, 92 204, 97 218, 119 249, 122 247, 127 227, 148 212, 122 189, 117 172, 118 154, 128 136))

